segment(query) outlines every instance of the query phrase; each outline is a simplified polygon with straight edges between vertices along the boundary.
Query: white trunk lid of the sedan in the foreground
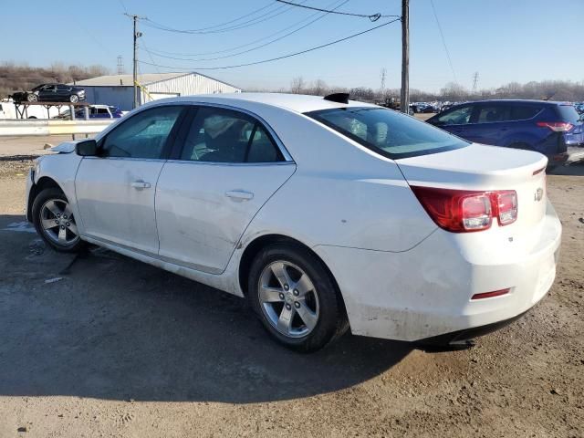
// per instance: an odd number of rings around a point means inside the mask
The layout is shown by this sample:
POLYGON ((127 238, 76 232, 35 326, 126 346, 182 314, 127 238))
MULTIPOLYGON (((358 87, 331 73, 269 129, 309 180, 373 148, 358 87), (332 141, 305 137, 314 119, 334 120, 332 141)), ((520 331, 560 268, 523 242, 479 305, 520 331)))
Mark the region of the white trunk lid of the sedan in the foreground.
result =
MULTIPOLYGON (((413 186, 469 191, 515 190, 517 220, 505 229, 526 231, 546 214, 547 158, 537 152, 471 144, 445 151, 396 160, 413 186)), ((493 221, 493 227, 499 226, 493 221)))

